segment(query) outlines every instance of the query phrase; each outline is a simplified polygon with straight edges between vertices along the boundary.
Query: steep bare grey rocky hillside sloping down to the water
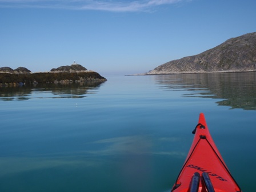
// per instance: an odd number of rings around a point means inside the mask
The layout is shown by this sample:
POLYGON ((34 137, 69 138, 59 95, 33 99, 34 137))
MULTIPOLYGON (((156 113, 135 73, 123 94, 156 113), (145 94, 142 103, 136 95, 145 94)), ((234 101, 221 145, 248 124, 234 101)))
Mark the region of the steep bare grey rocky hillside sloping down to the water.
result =
POLYGON ((256 70, 256 32, 228 39, 201 54, 167 62, 146 75, 256 70))

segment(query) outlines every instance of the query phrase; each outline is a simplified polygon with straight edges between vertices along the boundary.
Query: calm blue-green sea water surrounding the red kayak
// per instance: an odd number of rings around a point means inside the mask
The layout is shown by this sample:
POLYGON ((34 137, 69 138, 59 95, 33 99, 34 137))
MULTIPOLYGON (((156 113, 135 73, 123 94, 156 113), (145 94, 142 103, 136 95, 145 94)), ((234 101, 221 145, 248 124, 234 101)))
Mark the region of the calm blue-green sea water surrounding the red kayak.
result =
POLYGON ((199 113, 256 191, 256 73, 0 88, 0 191, 169 191, 199 113))

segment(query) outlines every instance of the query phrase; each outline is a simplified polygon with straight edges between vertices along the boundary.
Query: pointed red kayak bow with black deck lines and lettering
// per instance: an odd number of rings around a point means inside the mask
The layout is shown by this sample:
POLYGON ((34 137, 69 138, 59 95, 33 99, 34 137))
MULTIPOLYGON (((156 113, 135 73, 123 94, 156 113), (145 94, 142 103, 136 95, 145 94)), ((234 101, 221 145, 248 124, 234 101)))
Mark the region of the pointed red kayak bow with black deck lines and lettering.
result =
POLYGON ((192 133, 193 143, 171 191, 241 192, 211 138, 203 113, 192 133))

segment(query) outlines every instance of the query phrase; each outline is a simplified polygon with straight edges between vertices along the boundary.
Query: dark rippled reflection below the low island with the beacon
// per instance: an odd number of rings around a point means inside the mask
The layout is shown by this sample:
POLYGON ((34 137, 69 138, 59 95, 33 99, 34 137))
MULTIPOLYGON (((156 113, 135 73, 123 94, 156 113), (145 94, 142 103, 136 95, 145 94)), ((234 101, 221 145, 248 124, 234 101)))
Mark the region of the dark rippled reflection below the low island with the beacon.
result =
POLYGON ((96 93, 102 83, 104 82, 1 87, 0 99, 2 101, 22 101, 32 98, 83 98, 86 97, 86 94, 96 93))

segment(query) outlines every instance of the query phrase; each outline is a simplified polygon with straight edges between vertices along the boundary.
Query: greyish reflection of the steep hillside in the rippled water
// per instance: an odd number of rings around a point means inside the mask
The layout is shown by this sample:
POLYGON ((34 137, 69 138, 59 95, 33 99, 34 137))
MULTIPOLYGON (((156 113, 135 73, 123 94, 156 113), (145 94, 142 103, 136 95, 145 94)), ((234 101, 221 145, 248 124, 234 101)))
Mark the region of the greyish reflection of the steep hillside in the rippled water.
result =
POLYGON ((222 99, 218 105, 256 110, 256 72, 156 75, 164 89, 187 90, 183 97, 222 99))

